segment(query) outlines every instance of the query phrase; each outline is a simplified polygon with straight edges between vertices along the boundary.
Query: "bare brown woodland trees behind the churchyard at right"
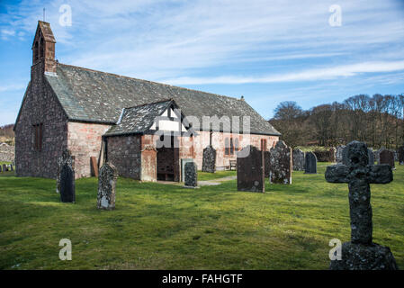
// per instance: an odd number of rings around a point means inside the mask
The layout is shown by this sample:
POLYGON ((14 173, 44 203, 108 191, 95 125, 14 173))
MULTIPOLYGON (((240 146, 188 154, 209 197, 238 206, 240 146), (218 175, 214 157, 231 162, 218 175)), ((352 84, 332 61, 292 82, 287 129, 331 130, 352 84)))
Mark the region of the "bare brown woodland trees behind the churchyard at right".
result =
POLYGON ((404 141, 404 94, 359 94, 342 103, 302 110, 296 102, 280 103, 269 122, 296 146, 337 146, 352 140, 372 148, 399 148, 404 141))

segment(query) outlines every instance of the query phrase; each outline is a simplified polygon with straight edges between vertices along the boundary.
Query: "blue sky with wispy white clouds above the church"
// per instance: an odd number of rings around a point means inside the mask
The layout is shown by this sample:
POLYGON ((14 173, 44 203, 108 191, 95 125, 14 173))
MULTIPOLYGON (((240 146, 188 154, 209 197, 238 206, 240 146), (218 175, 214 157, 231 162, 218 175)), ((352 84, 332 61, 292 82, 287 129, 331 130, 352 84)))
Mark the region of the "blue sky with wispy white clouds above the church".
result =
POLYGON ((283 101, 404 93, 403 0, 1 0, 0 125, 20 108, 44 7, 59 62, 244 95, 265 119, 283 101), (59 23, 62 4, 71 26, 59 23))

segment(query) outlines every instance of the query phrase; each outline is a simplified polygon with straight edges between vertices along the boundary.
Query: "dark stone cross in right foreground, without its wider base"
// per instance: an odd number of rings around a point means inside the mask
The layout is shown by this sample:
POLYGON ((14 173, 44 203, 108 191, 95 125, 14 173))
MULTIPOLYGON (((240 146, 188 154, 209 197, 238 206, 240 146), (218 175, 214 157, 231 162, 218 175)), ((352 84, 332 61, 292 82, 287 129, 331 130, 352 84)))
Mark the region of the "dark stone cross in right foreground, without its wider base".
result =
POLYGON ((352 141, 346 146, 347 165, 328 166, 326 180, 347 183, 351 217, 352 243, 372 243, 372 206, 369 184, 387 184, 393 180, 391 166, 369 165, 368 149, 363 142, 352 141))

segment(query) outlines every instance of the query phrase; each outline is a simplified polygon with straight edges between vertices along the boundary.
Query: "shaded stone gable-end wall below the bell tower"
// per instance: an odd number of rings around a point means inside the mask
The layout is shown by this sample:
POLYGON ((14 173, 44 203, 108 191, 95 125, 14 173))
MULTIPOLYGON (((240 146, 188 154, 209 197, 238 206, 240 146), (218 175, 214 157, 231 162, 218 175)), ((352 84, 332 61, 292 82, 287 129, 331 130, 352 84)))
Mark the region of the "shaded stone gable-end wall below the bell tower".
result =
POLYGON ((31 85, 15 127, 18 176, 56 178, 57 159, 67 148, 67 116, 43 76, 43 62, 31 67, 31 85), (34 127, 42 123, 42 148, 35 150, 34 127))

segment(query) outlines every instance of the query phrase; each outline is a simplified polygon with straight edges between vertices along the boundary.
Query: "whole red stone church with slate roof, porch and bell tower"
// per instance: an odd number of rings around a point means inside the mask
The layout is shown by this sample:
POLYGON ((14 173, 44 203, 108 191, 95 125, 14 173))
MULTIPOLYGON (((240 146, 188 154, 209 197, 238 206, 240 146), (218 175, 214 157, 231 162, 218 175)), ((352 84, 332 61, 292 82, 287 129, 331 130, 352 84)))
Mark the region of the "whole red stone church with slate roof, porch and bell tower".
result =
POLYGON ((38 22, 31 81, 14 126, 19 176, 55 178, 57 159, 69 149, 76 178, 92 175, 95 157, 125 177, 181 181, 182 163, 193 159, 201 168, 209 145, 224 169, 246 145, 266 150, 279 139, 243 98, 61 64, 55 43, 49 23, 38 22))

